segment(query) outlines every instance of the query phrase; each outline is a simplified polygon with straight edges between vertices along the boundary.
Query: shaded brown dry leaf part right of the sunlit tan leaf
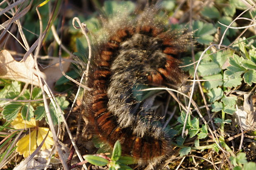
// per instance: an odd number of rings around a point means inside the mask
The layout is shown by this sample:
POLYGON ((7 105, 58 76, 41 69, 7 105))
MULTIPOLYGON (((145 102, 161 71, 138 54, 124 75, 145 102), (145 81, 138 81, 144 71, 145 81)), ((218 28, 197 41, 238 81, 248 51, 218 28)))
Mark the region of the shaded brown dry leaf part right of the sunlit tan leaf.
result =
MULTIPOLYGON (((62 61, 62 68, 63 68, 64 73, 66 73, 66 71, 69 69, 70 64, 71 64, 71 62, 69 62, 69 61, 62 61)), ((47 77, 46 82, 47 82, 48 86, 51 89, 53 89, 55 82, 63 76, 62 71, 59 68, 59 58, 53 59, 50 62, 49 66, 50 67, 43 70, 43 73, 45 73, 45 75, 47 77), (55 63, 57 63, 57 64, 55 64, 55 63), (54 64, 54 65, 52 65, 52 64, 54 64), (52 65, 52 66, 50 66, 50 65, 52 65)))

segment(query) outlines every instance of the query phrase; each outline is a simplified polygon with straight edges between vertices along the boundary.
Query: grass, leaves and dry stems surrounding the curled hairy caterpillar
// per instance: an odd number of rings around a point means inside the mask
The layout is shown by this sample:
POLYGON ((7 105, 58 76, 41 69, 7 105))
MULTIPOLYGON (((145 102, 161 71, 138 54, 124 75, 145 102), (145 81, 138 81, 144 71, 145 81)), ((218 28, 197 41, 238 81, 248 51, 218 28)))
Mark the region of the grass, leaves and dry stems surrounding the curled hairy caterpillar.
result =
POLYGON ((255 5, 254 0, 2 0, 0 169, 256 169, 255 5), (195 40, 181 56, 187 86, 133 91, 141 102, 164 98, 152 107, 162 111, 176 154, 138 167, 121 156, 120 143, 109 151, 94 141, 97 153, 83 156, 75 144, 80 127, 72 127, 76 118, 69 117, 76 109, 71 94, 86 89, 75 59, 88 61, 88 40, 102 36, 101 21, 117 14, 134 18, 147 3, 159 7, 156 18, 192 31, 195 40), (86 27, 77 28, 74 17, 86 27), (61 140, 65 128, 69 140, 61 140))

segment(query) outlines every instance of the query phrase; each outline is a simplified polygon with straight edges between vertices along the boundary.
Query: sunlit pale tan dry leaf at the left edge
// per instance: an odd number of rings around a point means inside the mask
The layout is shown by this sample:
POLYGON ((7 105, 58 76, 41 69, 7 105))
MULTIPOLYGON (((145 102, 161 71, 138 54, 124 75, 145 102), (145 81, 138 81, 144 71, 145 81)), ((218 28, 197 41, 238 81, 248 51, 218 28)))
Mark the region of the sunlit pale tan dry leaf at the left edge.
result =
MULTIPOLYGON (((12 79, 39 86, 38 76, 34 73, 34 59, 28 56, 26 61, 18 62, 7 50, 0 52, 0 78, 12 79)), ((44 73, 40 73, 45 77, 44 73)))

